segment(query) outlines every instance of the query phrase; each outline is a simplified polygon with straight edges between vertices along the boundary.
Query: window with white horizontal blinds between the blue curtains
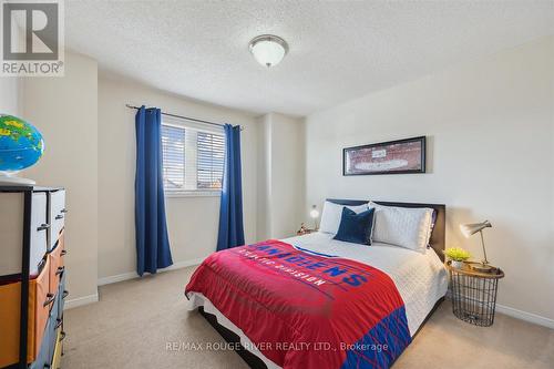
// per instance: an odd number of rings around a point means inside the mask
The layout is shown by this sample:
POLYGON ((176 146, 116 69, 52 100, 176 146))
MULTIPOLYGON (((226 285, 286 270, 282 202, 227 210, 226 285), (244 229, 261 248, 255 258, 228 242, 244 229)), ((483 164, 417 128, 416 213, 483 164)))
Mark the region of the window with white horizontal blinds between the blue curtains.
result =
POLYGON ((219 193, 225 157, 223 129, 164 116, 162 150, 167 195, 219 193))

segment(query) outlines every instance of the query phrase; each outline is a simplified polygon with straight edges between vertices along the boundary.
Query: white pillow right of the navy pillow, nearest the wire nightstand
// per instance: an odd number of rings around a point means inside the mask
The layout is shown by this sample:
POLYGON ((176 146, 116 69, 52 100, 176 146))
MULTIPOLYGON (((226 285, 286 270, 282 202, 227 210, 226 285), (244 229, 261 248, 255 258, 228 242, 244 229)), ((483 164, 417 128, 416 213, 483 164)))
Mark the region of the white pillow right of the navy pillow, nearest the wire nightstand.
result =
POLYGON ((373 242, 425 252, 432 230, 432 208, 383 206, 372 202, 369 206, 376 208, 373 242))

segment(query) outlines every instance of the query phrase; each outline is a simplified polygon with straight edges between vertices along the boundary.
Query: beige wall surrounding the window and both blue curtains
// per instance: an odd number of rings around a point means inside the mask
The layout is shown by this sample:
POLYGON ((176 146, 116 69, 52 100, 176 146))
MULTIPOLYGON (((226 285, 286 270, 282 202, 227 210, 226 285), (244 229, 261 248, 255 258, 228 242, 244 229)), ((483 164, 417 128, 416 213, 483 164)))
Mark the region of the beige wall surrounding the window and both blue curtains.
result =
MULTIPOLYGON (((129 81, 99 81, 99 277, 133 274, 135 112, 125 104, 146 104, 203 120, 240 124, 246 242, 256 240, 257 124, 249 114, 186 100, 129 81)), ((219 197, 168 197, 167 224, 175 264, 197 260, 215 250, 219 197)))

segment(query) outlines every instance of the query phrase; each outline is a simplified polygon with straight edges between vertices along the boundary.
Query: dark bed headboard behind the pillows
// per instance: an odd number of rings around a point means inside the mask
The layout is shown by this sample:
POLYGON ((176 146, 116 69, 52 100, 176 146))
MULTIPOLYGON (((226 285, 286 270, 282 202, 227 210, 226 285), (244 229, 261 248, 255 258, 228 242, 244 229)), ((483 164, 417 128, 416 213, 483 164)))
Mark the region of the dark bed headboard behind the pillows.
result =
MULTIPOLYGON (((362 205, 367 204, 367 199, 341 199, 341 198, 327 198, 328 202, 339 205, 362 205)), ((417 203, 391 203, 391 202, 378 202, 373 201, 379 205, 384 206, 398 206, 398 207, 430 207, 435 211, 437 219, 434 221, 433 233, 431 234, 431 239, 429 242, 430 246, 434 249, 439 258, 444 262, 444 245, 445 245, 445 223, 447 223, 447 206, 442 204, 417 204, 417 203)))

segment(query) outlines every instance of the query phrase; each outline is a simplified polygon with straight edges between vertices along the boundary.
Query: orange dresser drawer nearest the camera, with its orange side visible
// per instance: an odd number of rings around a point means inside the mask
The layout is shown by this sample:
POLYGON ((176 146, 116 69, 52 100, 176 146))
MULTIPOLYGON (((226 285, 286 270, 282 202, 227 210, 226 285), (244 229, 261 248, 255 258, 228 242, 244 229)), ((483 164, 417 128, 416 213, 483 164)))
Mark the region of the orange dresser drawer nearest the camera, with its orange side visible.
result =
MULTIPOLYGON (((28 362, 38 357, 47 321, 54 309, 55 295, 49 293, 49 279, 50 262, 47 259, 39 276, 29 281, 28 362)), ((20 294, 21 281, 0 286, 0 368, 19 360, 20 294)))

